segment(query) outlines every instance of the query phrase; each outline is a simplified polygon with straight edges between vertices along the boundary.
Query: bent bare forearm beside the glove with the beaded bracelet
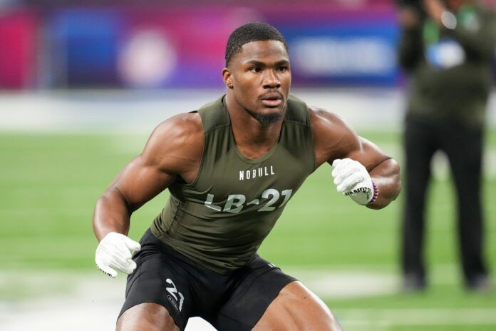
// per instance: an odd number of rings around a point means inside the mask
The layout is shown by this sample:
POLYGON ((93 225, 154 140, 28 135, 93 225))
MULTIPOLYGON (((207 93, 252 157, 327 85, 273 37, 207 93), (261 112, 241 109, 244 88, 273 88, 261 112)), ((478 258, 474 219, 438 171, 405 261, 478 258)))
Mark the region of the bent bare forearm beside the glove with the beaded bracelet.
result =
POLYGON ((370 170, 369 174, 378 188, 378 197, 372 204, 368 205, 368 208, 384 208, 400 194, 400 166, 392 158, 388 158, 370 170))

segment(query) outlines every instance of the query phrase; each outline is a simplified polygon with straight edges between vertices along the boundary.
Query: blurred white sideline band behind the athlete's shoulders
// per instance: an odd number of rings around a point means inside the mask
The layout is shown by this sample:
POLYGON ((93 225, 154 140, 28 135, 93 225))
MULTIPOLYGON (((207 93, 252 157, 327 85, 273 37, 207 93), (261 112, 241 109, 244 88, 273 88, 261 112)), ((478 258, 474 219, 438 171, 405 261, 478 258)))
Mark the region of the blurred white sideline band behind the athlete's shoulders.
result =
MULTIPOLYGON (((397 88, 291 90, 339 113, 355 128, 399 128, 404 96, 397 88), (371 111, 373 105, 373 111, 371 111)), ((0 94, 0 131, 146 132, 176 113, 193 111, 224 91, 39 91, 0 94)))

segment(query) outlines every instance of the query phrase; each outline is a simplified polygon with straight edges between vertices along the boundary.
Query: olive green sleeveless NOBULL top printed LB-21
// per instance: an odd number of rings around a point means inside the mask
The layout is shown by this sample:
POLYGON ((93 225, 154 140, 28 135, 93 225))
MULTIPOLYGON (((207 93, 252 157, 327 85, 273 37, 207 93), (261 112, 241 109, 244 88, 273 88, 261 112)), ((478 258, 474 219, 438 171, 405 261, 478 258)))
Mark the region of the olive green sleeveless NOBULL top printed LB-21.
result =
POLYGON ((257 159, 238 150, 223 101, 198 110, 205 133, 200 169, 192 183, 170 185, 170 199, 151 225, 162 242, 217 273, 248 263, 316 168, 303 101, 289 97, 279 140, 257 159))

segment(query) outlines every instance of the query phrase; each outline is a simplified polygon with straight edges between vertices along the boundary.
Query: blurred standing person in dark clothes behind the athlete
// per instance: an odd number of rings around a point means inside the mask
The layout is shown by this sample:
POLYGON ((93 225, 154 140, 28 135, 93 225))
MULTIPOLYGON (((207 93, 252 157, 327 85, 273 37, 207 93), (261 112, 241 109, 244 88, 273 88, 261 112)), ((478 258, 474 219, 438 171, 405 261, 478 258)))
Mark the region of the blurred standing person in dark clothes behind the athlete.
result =
POLYGON ((430 162, 443 151, 458 194, 458 237, 465 286, 487 290, 481 163, 492 86, 496 21, 476 1, 401 1, 399 61, 410 76, 405 118, 403 286, 423 290, 425 193, 430 162))

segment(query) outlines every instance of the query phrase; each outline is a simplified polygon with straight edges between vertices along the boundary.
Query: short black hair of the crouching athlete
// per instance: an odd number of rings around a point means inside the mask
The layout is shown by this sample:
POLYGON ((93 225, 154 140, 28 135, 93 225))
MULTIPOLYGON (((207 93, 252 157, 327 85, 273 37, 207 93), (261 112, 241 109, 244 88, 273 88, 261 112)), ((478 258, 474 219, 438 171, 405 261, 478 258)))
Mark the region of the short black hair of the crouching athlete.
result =
POLYGON ((239 26, 227 39, 226 46, 226 66, 229 65, 232 56, 241 50, 244 44, 252 41, 277 40, 284 44, 284 48, 288 51, 288 44, 284 36, 274 26, 267 23, 249 23, 239 26))

